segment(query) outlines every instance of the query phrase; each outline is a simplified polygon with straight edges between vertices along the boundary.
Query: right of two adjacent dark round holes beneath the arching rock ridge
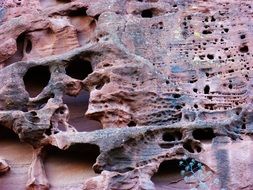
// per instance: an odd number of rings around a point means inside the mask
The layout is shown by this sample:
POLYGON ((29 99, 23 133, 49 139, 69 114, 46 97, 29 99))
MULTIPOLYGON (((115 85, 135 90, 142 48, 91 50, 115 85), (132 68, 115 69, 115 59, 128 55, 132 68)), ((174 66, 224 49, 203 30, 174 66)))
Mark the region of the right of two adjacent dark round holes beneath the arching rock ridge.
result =
POLYGON ((73 60, 66 67, 66 74, 74 79, 83 80, 92 73, 91 63, 82 59, 73 60))

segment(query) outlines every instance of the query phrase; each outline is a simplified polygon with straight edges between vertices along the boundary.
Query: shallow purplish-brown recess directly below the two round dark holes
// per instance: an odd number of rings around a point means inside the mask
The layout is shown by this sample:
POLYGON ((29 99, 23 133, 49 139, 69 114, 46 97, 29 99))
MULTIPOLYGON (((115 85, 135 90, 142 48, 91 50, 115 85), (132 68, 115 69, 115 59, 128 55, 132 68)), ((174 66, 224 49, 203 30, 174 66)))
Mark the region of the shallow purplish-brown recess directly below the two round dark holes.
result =
POLYGON ((67 104, 70 112, 69 124, 77 131, 94 131, 102 129, 100 122, 91 120, 85 116, 89 105, 89 92, 82 91, 77 97, 63 96, 64 104, 67 104))

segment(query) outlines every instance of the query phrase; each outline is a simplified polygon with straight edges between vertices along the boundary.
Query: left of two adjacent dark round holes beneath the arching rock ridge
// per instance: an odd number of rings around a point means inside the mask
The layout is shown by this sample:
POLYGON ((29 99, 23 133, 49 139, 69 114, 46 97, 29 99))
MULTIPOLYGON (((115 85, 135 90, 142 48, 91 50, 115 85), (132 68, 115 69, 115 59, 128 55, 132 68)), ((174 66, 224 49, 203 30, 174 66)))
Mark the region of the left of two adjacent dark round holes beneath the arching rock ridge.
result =
POLYGON ((48 66, 35 66, 24 75, 25 89, 31 97, 37 96, 45 88, 50 80, 48 66))

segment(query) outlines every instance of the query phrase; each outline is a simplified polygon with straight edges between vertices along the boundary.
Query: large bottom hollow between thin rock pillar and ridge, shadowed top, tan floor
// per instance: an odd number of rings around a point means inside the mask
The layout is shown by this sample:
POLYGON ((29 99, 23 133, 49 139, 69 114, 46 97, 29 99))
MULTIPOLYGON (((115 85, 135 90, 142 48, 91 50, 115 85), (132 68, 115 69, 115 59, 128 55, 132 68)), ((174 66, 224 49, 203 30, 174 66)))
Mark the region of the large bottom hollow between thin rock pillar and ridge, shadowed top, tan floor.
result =
POLYGON ((44 165, 50 185, 79 189, 86 179, 97 176, 92 166, 99 154, 99 147, 92 144, 74 144, 67 150, 47 147, 44 165))

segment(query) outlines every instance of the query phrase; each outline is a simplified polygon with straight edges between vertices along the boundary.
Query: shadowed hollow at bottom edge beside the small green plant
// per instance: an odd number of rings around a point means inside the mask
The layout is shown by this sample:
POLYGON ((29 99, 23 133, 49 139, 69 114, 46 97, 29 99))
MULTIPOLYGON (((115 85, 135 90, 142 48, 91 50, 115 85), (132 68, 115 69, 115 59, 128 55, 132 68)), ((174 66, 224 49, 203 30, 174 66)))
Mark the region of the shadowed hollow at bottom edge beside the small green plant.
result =
POLYGON ((160 164, 158 171, 151 178, 156 190, 189 189, 180 175, 179 161, 166 160, 160 164))

